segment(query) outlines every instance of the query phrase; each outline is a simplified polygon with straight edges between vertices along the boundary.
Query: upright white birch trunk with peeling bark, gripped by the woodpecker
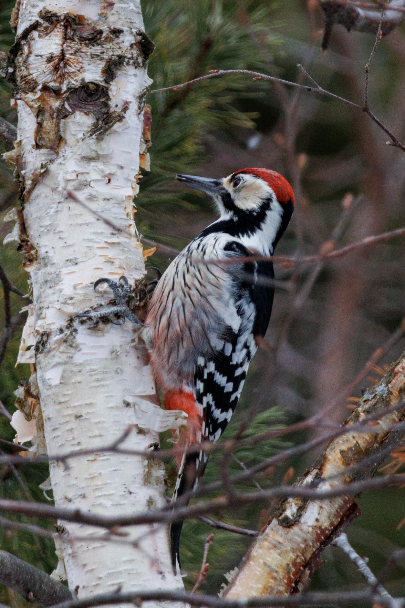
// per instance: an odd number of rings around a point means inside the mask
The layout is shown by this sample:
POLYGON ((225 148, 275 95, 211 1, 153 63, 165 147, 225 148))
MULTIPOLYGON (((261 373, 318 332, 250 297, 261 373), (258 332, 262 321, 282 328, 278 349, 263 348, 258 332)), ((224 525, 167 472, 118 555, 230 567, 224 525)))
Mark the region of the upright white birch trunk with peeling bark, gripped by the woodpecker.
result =
MULTIPOLYGON (((124 274, 134 285, 145 274, 132 206, 151 82, 140 2, 18 0, 13 21, 19 124, 9 161, 21 185, 20 243, 34 297, 19 361, 36 364, 50 455, 109 446, 128 425, 123 447, 145 450, 160 423, 175 424, 162 422, 131 325, 75 318, 111 300, 110 291, 94 293, 97 278, 124 274)), ((58 506, 111 515, 165 505, 158 461, 112 451, 69 465, 50 467, 58 506)), ((79 523, 66 529, 61 555, 79 597, 118 586, 182 589, 165 527, 129 528, 118 544, 79 523)))

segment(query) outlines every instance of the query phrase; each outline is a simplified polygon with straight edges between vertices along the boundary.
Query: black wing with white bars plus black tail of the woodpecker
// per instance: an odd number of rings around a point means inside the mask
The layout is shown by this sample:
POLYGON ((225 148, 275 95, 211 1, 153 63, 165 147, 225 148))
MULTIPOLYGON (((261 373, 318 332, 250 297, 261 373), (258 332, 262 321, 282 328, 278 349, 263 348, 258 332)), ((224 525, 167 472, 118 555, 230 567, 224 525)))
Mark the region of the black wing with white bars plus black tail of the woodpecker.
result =
MULTIPOLYGON (((252 257, 237 241, 224 247, 231 257, 252 257)), ((225 430, 239 400, 248 367, 256 352, 256 336, 264 336, 270 320, 274 295, 274 271, 270 261, 248 261, 230 266, 234 278, 234 301, 240 328, 227 326, 221 336, 222 347, 213 350, 194 371, 196 401, 203 407, 203 439, 217 441, 225 430)), ((174 500, 192 490, 202 477, 208 455, 188 454, 183 458, 174 500)), ((174 570, 180 564, 179 543, 183 522, 170 527, 171 556, 174 570)))

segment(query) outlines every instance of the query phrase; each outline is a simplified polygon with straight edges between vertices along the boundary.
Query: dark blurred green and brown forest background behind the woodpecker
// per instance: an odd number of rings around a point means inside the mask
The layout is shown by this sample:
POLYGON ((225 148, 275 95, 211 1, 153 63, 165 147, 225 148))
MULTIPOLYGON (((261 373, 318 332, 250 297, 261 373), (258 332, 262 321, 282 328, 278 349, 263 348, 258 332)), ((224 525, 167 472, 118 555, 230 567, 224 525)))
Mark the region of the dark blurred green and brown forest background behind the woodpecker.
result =
MULTIPOLYGON (((9 26, 13 2, 4 4, 0 46, 7 52, 13 43, 9 26)), ((304 78, 296 67, 301 63, 323 88, 362 103, 364 66, 375 36, 347 33, 336 26, 330 47, 323 53, 323 17, 316 0, 144 0, 142 5, 146 32, 155 43, 149 61, 152 88, 176 85, 210 69, 251 69, 302 83, 304 78)), ((405 139, 404 60, 405 30, 401 26, 378 46, 369 84, 371 109, 400 140, 405 139)), ((0 114, 15 122, 9 102, 12 88, 4 80, 0 87, 0 114)), ((211 78, 179 91, 150 93, 147 103, 152 106, 151 171, 143 174, 135 201, 137 226, 146 238, 182 249, 216 218, 206 196, 177 184, 175 173, 216 178, 243 167, 280 171, 293 185, 296 211, 276 254, 317 254, 322 246, 339 247, 405 225, 405 153, 386 145, 389 138, 361 111, 248 75, 211 78)), ((16 205, 17 192, 3 161, 0 180, 0 214, 4 216, 16 205)), ((11 229, 12 224, 1 224, 1 237, 11 229)), ((149 261, 161 269, 169 263, 156 254, 149 261)), ((26 291, 27 275, 21 269, 16 243, 1 247, 0 262, 10 280, 26 291)), ((246 418, 248 434, 257 434, 304 420, 332 405, 325 422, 342 422, 361 396, 361 388, 378 381, 386 365, 405 347, 398 331, 404 317, 404 240, 391 239, 335 260, 293 269, 277 263, 275 271, 270 328, 251 365, 226 437, 246 418), (388 348, 392 334, 397 339, 388 348), (378 348, 378 365, 364 370, 378 348), (354 383, 361 370, 364 373, 354 383)), ((15 331, 0 371, 0 398, 9 412, 14 411, 13 391, 19 379, 29 377, 28 366, 14 367, 22 331, 18 312, 24 302, 12 294, 12 304, 15 331)), ((316 432, 285 435, 249 451, 241 447, 230 468, 239 472, 243 465, 251 466, 316 432)), ((0 436, 13 438, 4 416, 0 436)), ((293 481, 315 457, 307 454, 267 470, 257 483, 265 487, 285 476, 293 481)), ((395 463, 401 463, 401 452, 395 463)), ((219 455, 211 457, 205 482, 219 478, 219 464, 219 455)), ((168 472, 173 480, 170 463, 168 472)), ((35 500, 45 500, 38 483, 47 477, 46 468, 24 468, 18 474, 20 480, 9 467, 0 469, 2 497, 24 499, 28 492, 35 500)), ((250 487, 254 485, 245 486, 250 487)), ((404 546, 405 525, 397 529, 405 517, 404 492, 398 488, 368 492, 359 500, 361 517, 347 529, 350 541, 370 558, 375 572, 395 548, 404 546)), ((261 510, 271 508, 263 503, 221 516, 226 522, 256 530, 264 517, 261 510)), ((39 523, 52 528, 49 523, 39 523)), ((211 532, 202 522, 186 522, 183 528, 182 565, 188 572, 189 589, 196 581, 203 543, 211 532)), ((239 564, 250 544, 246 537, 225 531, 214 534, 208 553, 209 574, 201 587, 211 593, 219 591, 223 573, 239 564)), ((0 527, 0 545, 47 572, 55 567, 48 539, 0 527)), ((338 548, 327 548, 323 557, 326 562, 315 574, 313 589, 363 585, 338 548)), ((404 595, 404 568, 393 571, 387 589, 393 595, 404 595)), ((0 601, 13 608, 24 603, 5 589, 0 601)))

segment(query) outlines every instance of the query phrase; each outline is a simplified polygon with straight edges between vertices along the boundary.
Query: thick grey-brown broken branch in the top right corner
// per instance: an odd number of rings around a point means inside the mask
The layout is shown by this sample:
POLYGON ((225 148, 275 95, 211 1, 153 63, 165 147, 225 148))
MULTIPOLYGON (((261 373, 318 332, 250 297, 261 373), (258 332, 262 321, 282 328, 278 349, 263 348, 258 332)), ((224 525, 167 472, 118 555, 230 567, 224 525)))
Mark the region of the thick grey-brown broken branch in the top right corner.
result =
MULTIPOLYGON (((364 10, 359 7, 339 2, 339 0, 319 0, 325 15, 325 32, 322 40, 322 50, 327 50, 330 36, 335 24, 341 24, 348 32, 356 30, 376 34, 381 20, 381 7, 376 5, 376 10, 364 10)), ((387 4, 381 20, 381 33, 383 36, 392 32, 403 21, 404 13, 395 10, 395 7, 403 7, 404 0, 391 0, 387 4)))

